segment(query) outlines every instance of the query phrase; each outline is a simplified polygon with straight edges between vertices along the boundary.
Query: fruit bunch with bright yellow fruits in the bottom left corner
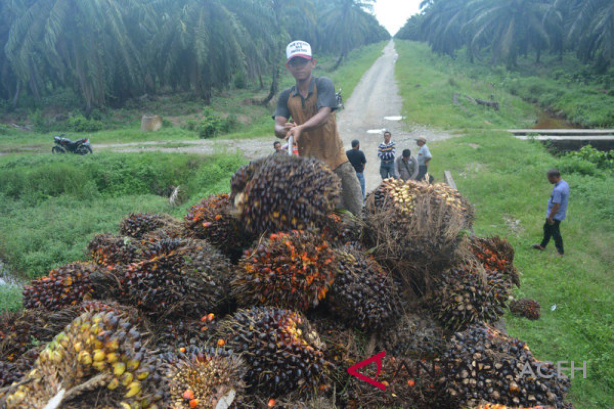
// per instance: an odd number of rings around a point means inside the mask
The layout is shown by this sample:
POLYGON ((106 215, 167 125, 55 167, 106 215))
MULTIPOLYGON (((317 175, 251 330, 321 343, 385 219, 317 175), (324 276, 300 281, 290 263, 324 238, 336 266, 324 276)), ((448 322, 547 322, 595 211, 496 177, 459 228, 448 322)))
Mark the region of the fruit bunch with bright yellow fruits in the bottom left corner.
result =
POLYGON ((62 389, 65 400, 97 389, 119 407, 153 409, 164 398, 156 366, 130 321, 114 312, 86 312, 45 347, 26 383, 7 396, 6 405, 41 409, 58 392, 63 395, 62 389))

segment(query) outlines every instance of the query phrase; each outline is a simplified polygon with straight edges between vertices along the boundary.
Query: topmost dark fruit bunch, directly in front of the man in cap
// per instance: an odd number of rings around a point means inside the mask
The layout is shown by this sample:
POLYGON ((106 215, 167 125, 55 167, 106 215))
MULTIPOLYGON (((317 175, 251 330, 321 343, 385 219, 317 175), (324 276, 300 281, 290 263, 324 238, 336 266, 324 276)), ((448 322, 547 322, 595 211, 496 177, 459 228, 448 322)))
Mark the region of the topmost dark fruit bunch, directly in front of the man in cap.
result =
POLYGON ((264 232, 322 227, 340 200, 340 179, 317 159, 272 155, 239 169, 231 202, 244 228, 264 232))

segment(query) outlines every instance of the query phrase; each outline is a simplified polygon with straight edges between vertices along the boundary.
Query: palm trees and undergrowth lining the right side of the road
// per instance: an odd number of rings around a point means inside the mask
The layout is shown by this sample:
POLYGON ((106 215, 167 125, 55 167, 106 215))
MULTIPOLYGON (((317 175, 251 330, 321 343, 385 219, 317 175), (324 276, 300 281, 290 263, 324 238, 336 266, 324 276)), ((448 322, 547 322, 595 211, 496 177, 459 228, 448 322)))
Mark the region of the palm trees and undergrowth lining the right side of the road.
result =
MULTIPOLYGON (((429 0, 395 35, 586 128, 614 126, 614 3, 429 0)), ((488 95, 488 94, 487 94, 488 95)), ((496 96, 496 94, 495 94, 496 96)))

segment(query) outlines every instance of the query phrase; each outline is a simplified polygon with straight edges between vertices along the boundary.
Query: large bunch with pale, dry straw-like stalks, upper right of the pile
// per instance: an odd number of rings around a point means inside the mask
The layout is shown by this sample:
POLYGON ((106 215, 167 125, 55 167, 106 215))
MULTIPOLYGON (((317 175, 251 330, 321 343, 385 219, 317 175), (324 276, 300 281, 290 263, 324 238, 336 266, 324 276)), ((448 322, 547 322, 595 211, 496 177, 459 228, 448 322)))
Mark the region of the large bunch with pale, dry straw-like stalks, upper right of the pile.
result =
POLYGON ((388 178, 367 196, 363 242, 404 289, 423 295, 454 264, 467 212, 437 184, 388 178))

